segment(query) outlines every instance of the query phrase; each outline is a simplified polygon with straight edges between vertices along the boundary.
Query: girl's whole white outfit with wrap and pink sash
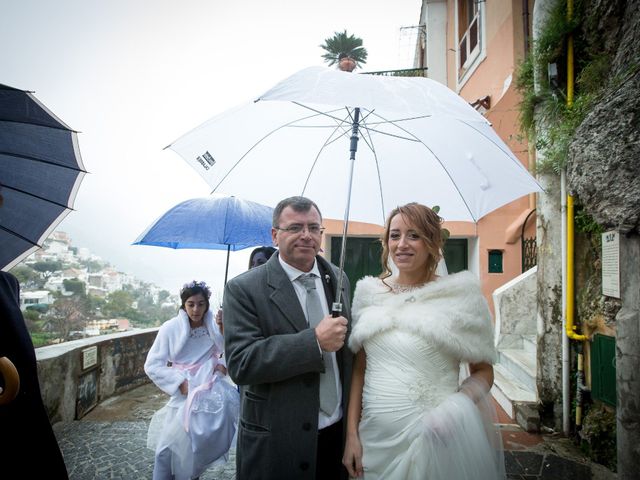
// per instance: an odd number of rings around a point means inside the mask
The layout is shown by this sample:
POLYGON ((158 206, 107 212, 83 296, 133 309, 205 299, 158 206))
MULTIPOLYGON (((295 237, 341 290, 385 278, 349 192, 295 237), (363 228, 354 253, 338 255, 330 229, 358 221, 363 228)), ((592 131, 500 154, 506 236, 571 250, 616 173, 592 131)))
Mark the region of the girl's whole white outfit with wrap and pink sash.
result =
MULTIPOLYGON (((228 459, 238 425, 238 390, 215 370, 225 365, 224 340, 213 315, 191 329, 184 310, 160 327, 149 350, 145 372, 165 393, 167 404, 151 419, 147 446, 156 456, 169 449, 164 469, 176 480, 199 476, 216 461, 228 459), (189 393, 180 393, 187 379, 189 393)), ((164 459, 162 460, 165 461, 164 459)), ((157 462, 156 462, 157 464, 157 462)), ((154 477, 155 477, 154 472, 154 477)))

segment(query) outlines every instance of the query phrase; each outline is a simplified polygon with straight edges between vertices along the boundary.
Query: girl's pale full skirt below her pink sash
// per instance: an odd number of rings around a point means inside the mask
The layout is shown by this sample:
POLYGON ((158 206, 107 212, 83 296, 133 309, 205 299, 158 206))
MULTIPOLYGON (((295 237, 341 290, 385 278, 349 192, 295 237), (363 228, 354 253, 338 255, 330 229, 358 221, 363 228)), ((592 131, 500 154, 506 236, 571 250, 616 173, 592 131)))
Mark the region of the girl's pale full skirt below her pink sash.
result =
POLYGON ((153 415, 147 433, 147 447, 156 455, 171 450, 176 480, 197 477, 214 463, 228 460, 238 426, 238 390, 218 377, 210 389, 194 396, 185 417, 188 407, 186 401, 165 405, 153 415))

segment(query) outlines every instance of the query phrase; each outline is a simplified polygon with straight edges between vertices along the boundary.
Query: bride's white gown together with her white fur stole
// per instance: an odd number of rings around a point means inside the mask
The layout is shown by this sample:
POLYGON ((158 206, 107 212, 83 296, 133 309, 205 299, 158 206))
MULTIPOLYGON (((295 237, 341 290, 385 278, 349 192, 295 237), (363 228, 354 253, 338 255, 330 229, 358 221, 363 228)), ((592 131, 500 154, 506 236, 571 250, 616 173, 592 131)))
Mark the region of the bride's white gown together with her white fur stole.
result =
MULTIPOLYGON (((362 419, 364 478, 504 479, 490 397, 458 391, 461 366, 494 363, 493 325, 469 272, 405 293, 378 278, 355 289, 349 346, 366 352, 362 419)), ((464 379, 464 378, 463 378, 464 379)))

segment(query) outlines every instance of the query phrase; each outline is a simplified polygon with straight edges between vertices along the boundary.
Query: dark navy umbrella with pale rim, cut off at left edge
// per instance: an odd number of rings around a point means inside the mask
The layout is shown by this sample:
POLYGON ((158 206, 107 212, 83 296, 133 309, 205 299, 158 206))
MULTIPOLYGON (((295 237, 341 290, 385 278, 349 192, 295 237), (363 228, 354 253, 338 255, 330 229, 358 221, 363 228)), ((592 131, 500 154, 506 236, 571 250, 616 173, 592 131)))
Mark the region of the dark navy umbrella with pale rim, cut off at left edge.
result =
POLYGON ((0 84, 0 269, 42 246, 85 173, 76 132, 31 92, 0 84))

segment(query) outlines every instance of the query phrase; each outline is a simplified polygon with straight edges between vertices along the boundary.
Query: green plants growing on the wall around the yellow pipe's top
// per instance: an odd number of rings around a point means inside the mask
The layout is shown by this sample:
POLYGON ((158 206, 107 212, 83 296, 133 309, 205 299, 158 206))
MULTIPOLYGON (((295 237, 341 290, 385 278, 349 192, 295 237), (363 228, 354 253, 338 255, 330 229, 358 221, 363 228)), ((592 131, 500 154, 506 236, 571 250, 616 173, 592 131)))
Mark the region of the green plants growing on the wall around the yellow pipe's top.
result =
POLYGON ((538 172, 559 173, 565 167, 576 129, 608 85, 610 58, 599 50, 600 43, 583 38, 581 26, 593 21, 583 7, 582 1, 575 1, 573 16, 568 19, 566 0, 558 0, 516 74, 516 88, 522 95, 521 131, 544 152, 536 165, 538 172), (569 36, 573 39, 576 75, 571 105, 566 92, 569 36), (557 71, 557 76, 550 78, 550 71, 557 71))

